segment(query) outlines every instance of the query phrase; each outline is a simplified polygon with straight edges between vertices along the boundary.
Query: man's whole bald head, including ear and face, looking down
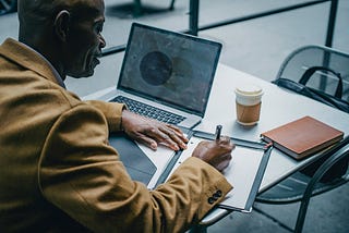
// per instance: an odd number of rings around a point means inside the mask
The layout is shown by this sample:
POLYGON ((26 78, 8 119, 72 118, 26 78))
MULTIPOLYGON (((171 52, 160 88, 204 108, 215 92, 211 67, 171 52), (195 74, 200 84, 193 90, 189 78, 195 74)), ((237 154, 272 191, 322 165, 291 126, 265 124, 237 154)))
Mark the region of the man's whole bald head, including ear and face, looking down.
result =
POLYGON ((20 0, 20 41, 46 57, 62 78, 91 76, 106 46, 104 11, 104 0, 20 0))

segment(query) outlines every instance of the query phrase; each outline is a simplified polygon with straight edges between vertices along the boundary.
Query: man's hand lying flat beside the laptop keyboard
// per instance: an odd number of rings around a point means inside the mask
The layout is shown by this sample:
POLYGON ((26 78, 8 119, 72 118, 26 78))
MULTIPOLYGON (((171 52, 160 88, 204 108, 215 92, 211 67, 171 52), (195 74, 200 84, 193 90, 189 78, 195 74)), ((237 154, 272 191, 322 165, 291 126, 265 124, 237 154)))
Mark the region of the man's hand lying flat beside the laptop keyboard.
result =
POLYGON ((177 126, 135 114, 129 110, 122 111, 122 127, 130 137, 154 150, 158 144, 173 150, 186 148, 188 139, 177 126))

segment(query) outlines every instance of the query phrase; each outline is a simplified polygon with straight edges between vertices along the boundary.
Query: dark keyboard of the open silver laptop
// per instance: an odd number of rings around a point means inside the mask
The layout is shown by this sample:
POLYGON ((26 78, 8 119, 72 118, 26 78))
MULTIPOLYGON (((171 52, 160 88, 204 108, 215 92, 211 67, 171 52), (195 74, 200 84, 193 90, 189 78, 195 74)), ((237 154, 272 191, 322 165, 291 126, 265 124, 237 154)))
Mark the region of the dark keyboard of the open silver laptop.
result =
POLYGON ((129 107, 129 110, 132 112, 135 112, 141 115, 145 115, 152 119, 156 119, 158 121, 169 123, 169 124, 178 124, 185 119, 182 115, 178 115, 178 114, 161 110, 159 108, 155 108, 153 106, 130 99, 124 96, 117 96, 111 101, 125 103, 129 107))

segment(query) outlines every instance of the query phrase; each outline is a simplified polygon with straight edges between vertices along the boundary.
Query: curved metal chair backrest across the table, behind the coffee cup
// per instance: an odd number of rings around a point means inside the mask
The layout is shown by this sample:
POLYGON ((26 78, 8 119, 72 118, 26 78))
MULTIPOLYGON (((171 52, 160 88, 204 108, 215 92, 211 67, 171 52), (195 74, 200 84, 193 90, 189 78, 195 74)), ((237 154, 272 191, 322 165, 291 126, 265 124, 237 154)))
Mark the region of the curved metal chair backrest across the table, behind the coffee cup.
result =
POLYGON ((349 54, 345 52, 315 45, 301 47, 285 59, 274 83, 278 79, 336 96, 349 108, 349 54))

